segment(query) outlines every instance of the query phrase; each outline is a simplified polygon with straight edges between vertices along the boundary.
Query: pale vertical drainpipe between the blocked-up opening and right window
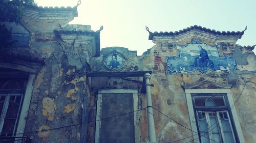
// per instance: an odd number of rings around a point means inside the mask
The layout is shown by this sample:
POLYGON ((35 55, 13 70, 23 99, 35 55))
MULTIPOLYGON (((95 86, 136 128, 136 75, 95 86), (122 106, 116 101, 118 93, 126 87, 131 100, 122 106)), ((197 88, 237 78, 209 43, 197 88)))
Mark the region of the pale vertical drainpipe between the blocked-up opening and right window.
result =
POLYGON ((150 143, 157 143, 155 122, 154 122, 153 108, 152 108, 151 89, 150 89, 151 74, 145 73, 144 78, 145 78, 145 86, 146 86, 148 138, 150 143))

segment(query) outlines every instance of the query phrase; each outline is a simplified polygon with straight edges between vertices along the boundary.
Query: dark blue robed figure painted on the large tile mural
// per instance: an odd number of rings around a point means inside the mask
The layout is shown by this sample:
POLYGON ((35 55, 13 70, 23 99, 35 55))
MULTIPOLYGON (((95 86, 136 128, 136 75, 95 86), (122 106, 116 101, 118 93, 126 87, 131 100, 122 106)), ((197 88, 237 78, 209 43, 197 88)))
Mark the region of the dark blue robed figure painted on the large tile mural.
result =
POLYGON ((194 67, 200 67, 200 68, 211 68, 214 69, 214 63, 209 59, 208 53, 205 49, 202 48, 202 46, 198 46, 200 49, 200 55, 195 58, 194 60, 194 67))

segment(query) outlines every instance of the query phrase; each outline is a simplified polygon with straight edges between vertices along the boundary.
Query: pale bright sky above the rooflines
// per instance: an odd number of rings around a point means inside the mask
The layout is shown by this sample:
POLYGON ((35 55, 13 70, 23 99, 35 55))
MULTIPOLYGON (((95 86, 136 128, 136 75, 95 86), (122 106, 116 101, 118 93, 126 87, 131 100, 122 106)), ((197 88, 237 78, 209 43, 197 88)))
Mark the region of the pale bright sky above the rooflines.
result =
MULTIPOLYGON (((38 6, 71 6, 78 0, 35 0, 38 6)), ((100 46, 120 46, 137 50, 141 55, 154 43, 148 40, 148 32, 179 31, 192 25, 216 31, 247 30, 237 44, 256 44, 255 0, 81 0, 78 17, 70 24, 91 25, 99 30, 100 46)), ((256 49, 253 50, 254 53, 256 49)))

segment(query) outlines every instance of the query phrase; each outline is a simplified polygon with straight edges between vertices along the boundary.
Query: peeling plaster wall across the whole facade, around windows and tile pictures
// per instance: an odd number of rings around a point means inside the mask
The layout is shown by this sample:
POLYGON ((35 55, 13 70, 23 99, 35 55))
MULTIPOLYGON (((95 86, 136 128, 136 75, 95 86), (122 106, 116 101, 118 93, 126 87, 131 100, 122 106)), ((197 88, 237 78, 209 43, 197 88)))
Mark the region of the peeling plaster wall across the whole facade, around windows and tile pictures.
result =
MULTIPOLYGON (((204 38, 193 35, 178 40, 158 37, 153 41, 156 45, 145 51, 142 56, 137 56, 136 51, 129 51, 127 48, 108 47, 102 48, 100 56, 96 58, 96 44, 92 36, 62 34, 61 39, 54 34, 53 30, 62 30, 71 19, 72 16, 68 15, 44 21, 31 19, 27 14, 22 25, 31 35, 29 45, 4 49, 5 52, 45 61, 36 73, 25 127, 25 132, 28 133, 24 135, 32 138, 32 142, 94 142, 95 122, 91 121, 96 120, 98 90, 138 90, 139 108, 146 107, 146 95, 141 93, 143 77, 88 78, 87 71, 152 71, 153 106, 187 128, 190 128, 190 120, 182 85, 204 80, 232 84, 230 90, 233 100, 239 98, 235 107, 245 141, 250 143, 256 140, 255 55, 252 51, 236 45, 236 39, 212 41, 209 35, 205 38, 207 34, 204 34, 204 38), (233 55, 237 69, 230 70, 229 73, 207 71, 206 74, 202 74, 197 70, 191 73, 166 75, 166 56, 177 55, 175 45, 185 45, 193 38, 200 38, 209 45, 220 45, 219 54, 233 55), (116 69, 106 65, 108 57, 113 58, 112 54, 122 57, 123 64, 116 69), (80 124, 87 122, 90 123, 80 124), (80 125, 70 127, 71 124, 80 125)), ((90 26, 80 28, 91 31, 90 26)), ((166 118, 157 110, 154 110, 154 119, 158 142, 170 142, 192 135, 190 130, 166 118)), ((139 112, 139 126, 140 141, 148 142, 146 110, 139 112)), ((182 142, 192 139, 189 137, 182 142)))

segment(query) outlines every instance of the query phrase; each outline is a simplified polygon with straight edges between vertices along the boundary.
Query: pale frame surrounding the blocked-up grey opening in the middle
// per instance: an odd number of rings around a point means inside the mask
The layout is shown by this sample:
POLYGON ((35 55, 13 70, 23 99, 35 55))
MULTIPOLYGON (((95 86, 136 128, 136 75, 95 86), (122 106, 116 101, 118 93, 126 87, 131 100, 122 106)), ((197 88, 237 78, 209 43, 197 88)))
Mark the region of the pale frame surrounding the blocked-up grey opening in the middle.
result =
MULTIPOLYGON (((97 99, 97 113, 96 113, 96 129, 95 129, 95 143, 99 142, 100 127, 101 127, 101 107, 102 107, 102 94, 133 94, 133 110, 138 110, 138 91, 131 89, 110 89, 98 91, 97 99)), ((140 142, 140 128, 139 128, 139 111, 134 112, 134 140, 140 142)))

